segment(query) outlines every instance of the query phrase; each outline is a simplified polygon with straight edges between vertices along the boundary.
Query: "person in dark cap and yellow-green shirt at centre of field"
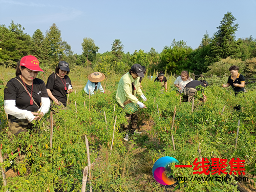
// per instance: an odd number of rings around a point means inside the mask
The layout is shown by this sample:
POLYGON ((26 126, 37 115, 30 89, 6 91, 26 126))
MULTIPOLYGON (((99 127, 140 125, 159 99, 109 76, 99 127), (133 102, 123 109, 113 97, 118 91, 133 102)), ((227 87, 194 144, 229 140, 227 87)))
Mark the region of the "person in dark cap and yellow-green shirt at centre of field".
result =
MULTIPOLYGON (((146 97, 140 89, 140 78, 144 77, 142 67, 139 64, 135 64, 131 67, 130 71, 123 75, 118 83, 116 101, 123 108, 126 113, 127 123, 122 125, 124 131, 130 132, 130 134, 139 133, 136 132, 138 116, 137 111, 139 108, 146 108, 146 105, 140 102, 136 98, 136 93, 143 101, 146 101, 146 97)), ((124 140, 128 141, 129 133, 125 135, 124 140)))

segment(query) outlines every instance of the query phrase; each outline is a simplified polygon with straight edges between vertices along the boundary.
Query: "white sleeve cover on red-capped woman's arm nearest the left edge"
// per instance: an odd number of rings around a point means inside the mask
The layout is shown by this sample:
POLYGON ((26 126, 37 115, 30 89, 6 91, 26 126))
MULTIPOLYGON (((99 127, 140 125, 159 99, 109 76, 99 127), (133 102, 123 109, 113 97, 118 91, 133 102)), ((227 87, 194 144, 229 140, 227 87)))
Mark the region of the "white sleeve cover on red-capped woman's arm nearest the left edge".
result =
POLYGON ((27 110, 20 110, 18 109, 16 105, 15 100, 5 100, 5 112, 9 115, 13 115, 14 117, 18 119, 28 119, 28 121, 33 121, 35 116, 27 110))

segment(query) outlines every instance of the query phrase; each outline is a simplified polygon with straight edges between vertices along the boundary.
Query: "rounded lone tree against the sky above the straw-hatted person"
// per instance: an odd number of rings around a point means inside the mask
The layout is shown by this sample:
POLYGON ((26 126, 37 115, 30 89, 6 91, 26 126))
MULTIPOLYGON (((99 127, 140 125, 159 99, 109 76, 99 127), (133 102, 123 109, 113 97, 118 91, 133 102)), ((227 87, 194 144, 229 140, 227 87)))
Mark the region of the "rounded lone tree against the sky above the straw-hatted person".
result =
POLYGON ((99 47, 95 45, 95 42, 91 38, 84 38, 82 42, 82 54, 87 57, 89 61, 96 59, 96 53, 99 47))

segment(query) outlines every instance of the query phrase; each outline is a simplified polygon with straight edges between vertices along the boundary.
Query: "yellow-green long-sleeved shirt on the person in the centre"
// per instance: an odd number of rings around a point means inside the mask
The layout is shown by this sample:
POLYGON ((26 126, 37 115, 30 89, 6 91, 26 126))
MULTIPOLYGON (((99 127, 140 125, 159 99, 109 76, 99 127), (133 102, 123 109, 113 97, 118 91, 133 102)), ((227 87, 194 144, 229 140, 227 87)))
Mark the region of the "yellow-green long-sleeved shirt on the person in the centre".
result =
POLYGON ((123 75, 118 83, 118 88, 116 92, 116 101, 121 105, 123 105, 124 101, 127 101, 130 99, 133 103, 137 103, 139 100, 135 97, 136 93, 141 96, 143 95, 141 89, 140 89, 140 77, 137 77, 136 79, 133 79, 132 75, 130 73, 126 73, 123 75), (133 87, 132 82, 134 82, 135 87, 135 94, 133 95, 133 87))

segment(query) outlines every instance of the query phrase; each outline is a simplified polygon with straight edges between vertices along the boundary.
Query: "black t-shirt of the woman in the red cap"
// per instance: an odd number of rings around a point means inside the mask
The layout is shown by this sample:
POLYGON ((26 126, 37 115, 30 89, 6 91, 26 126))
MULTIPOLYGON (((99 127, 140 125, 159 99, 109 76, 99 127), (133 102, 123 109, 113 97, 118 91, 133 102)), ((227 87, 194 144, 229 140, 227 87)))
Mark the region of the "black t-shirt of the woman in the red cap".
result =
MULTIPOLYGON (((20 82, 23 83, 22 79, 17 76, 16 77, 20 82)), ((17 81, 17 79, 12 78, 8 81, 6 84, 4 93, 5 93, 5 100, 16 100, 16 107, 20 110, 27 110, 31 112, 37 112, 38 106, 40 106, 41 97, 48 97, 47 91, 46 91, 46 84, 41 79, 35 78, 33 80, 33 93, 32 97, 34 101, 38 104, 36 106, 35 103, 33 105, 30 105, 30 96, 28 92, 31 94, 32 85, 29 86, 26 84, 26 87, 28 89, 25 90, 25 88, 20 84, 20 82, 17 81)))

